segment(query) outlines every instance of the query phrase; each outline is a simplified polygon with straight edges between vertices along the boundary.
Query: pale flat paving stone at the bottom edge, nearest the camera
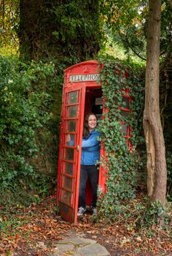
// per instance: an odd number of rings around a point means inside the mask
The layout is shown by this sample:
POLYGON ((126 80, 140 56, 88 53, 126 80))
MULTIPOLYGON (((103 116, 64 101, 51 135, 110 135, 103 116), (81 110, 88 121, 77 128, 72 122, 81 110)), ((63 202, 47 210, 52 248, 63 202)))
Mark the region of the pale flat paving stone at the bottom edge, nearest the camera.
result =
POLYGON ((108 256, 108 255, 110 255, 109 252, 106 250, 106 248, 101 246, 100 244, 83 246, 82 248, 78 249, 78 252, 82 256, 108 256))

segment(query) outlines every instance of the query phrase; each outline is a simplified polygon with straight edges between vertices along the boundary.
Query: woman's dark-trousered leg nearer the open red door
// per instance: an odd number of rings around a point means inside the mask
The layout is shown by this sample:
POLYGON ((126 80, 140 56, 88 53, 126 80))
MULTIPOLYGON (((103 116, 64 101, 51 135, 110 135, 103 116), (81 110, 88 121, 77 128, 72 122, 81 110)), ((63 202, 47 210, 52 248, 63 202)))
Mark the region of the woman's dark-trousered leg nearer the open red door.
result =
POLYGON ((80 181, 79 181, 79 207, 86 207, 85 203, 85 188, 86 188, 86 182, 87 182, 87 168, 85 168, 85 165, 81 165, 80 170, 80 181))

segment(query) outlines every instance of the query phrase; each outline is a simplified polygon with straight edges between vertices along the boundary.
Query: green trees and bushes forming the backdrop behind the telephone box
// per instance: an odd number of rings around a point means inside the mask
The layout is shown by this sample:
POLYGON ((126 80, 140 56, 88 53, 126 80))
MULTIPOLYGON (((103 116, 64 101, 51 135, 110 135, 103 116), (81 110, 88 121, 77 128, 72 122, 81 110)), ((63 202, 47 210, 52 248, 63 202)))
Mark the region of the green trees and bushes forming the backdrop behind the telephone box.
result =
MULTIPOLYGON (((1 1, 1 203, 10 200, 17 203, 21 197, 38 200, 54 193, 63 69, 88 59, 118 57, 128 66, 130 59, 135 63, 131 69, 137 70, 137 83, 142 85, 135 96, 140 112, 136 122, 139 129, 134 129, 142 136, 136 157, 142 163, 142 181, 146 189, 140 97, 144 95, 147 12, 147 1, 135 0, 1 1)), ((160 114, 168 164, 168 200, 171 200, 172 187, 170 17, 171 4, 164 0, 160 114)), ((116 136, 115 132, 113 136, 116 136)), ((116 151, 118 156, 120 154, 120 162, 124 157, 126 159, 123 149, 116 148, 116 151)), ((116 158, 115 154, 112 166, 117 165, 116 158)), ((128 158, 128 178, 133 189, 136 173, 130 168, 138 169, 138 163, 130 165, 130 161, 128 158)), ((129 192, 128 188, 123 196, 129 192)))

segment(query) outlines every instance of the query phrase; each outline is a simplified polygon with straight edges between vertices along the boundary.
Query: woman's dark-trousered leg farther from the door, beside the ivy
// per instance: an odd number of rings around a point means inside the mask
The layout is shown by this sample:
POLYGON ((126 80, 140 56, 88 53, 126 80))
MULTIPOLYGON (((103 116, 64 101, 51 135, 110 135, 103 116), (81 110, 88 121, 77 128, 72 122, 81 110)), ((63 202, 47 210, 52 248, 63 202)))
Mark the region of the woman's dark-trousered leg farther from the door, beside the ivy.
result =
POLYGON ((98 190, 98 176, 99 176, 98 166, 90 165, 90 167, 88 168, 88 175, 90 177, 91 187, 93 189, 93 208, 95 208, 96 202, 97 202, 97 190, 98 190))

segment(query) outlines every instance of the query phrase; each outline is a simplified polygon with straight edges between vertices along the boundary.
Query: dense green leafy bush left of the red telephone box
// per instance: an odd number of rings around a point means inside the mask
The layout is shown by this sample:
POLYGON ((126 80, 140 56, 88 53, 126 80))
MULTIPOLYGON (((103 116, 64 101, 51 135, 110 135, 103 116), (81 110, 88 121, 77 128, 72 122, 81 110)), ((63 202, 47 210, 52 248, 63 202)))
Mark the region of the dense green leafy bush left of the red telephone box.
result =
POLYGON ((46 195, 51 178, 36 173, 36 161, 47 154, 40 134, 51 138, 51 126, 58 123, 51 111, 57 91, 55 67, 42 62, 27 66, 3 57, 0 63, 0 190, 17 192, 23 187, 26 193, 28 189, 46 195))

